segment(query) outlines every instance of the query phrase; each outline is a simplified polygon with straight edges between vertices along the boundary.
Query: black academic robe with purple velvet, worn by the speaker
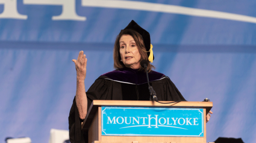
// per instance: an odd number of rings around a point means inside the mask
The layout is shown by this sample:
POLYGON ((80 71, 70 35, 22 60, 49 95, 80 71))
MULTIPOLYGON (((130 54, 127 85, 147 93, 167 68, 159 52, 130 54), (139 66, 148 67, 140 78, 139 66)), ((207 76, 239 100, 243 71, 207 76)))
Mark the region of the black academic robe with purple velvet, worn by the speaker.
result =
MULTIPOLYGON (((149 83, 157 94, 158 101, 185 100, 169 77, 159 72, 148 74, 149 83)), ((146 73, 137 69, 122 68, 101 75, 86 92, 88 108, 93 100, 149 101, 150 94, 146 73)), ((81 120, 75 99, 69 113, 70 142, 88 142, 87 133, 81 132, 81 120)))

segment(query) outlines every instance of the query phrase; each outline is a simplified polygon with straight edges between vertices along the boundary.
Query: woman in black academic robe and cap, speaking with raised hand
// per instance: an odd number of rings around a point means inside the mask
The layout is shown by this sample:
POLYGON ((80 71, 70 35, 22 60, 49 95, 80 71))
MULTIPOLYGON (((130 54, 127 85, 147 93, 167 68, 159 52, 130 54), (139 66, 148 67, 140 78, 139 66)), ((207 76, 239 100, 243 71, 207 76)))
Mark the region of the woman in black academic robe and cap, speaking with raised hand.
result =
MULTIPOLYGON (((148 101, 150 98, 145 70, 141 60, 153 62, 154 55, 150 35, 133 20, 123 29, 114 44, 115 71, 101 75, 86 92, 86 55, 80 51, 76 66, 76 96, 69 115, 70 142, 87 142, 87 135, 81 132, 81 121, 93 100, 148 101)), ((181 93, 168 77, 152 71, 148 63, 148 77, 159 101, 184 100, 181 93)))

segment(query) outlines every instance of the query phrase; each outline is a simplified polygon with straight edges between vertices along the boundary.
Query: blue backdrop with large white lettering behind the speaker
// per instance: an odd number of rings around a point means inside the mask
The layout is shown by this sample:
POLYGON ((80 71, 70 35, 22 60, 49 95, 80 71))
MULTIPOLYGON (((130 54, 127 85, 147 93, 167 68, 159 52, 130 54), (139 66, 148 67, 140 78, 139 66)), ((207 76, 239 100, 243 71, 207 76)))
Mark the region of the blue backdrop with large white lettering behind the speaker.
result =
POLYGON ((151 34, 155 71, 188 101, 213 102, 207 141, 256 142, 255 1, 0 1, 0 141, 48 142, 68 129, 72 59, 87 55, 86 89, 113 70, 113 45, 135 20, 151 34))

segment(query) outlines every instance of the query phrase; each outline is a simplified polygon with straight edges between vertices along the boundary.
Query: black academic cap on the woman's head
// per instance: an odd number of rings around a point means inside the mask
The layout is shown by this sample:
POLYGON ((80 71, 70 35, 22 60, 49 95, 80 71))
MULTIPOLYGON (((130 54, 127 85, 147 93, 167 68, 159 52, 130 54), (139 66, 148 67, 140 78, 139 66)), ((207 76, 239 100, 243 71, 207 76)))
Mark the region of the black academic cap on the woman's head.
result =
MULTIPOLYGON (((126 26, 125 29, 133 29, 134 31, 136 31, 140 35, 142 35, 146 51, 150 50, 151 41, 150 41, 150 34, 148 31, 146 31, 145 29, 140 27, 136 22, 134 22, 134 20, 131 20, 131 22, 129 23, 128 26, 126 26)), ((125 30, 125 29, 123 29, 123 30, 125 30)), ((147 52, 147 54, 149 57, 150 52, 147 52)), ((153 60, 154 60, 154 55, 153 55, 153 60)))

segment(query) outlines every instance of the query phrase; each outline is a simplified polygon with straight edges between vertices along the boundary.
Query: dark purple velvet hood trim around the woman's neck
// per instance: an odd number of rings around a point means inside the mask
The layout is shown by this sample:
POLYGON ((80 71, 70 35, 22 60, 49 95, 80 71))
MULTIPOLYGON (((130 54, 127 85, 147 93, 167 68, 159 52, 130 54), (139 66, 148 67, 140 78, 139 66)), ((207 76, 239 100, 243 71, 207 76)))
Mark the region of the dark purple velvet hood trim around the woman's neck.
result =
MULTIPOLYGON (((111 80, 123 81, 126 83, 147 83, 146 72, 138 71, 138 69, 122 68, 102 75, 110 78, 111 80)), ((164 77, 164 74, 161 74, 160 72, 151 71, 148 74, 149 81, 159 80, 161 77, 164 77)))

